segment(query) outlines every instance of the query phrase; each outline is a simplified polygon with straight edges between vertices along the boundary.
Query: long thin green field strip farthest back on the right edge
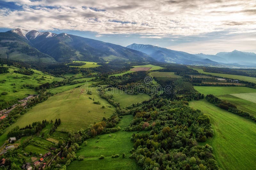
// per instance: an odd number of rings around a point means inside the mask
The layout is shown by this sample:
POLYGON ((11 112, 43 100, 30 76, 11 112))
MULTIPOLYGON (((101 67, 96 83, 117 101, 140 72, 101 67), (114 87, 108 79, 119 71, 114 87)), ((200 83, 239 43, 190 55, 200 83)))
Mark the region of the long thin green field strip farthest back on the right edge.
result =
POLYGON ((238 79, 238 80, 256 83, 256 77, 248 77, 248 76, 233 75, 233 74, 209 73, 209 72, 204 72, 204 70, 201 68, 192 68, 192 69, 197 70, 199 73, 203 73, 203 74, 209 74, 213 76, 219 76, 219 77, 224 77, 229 79, 238 79))

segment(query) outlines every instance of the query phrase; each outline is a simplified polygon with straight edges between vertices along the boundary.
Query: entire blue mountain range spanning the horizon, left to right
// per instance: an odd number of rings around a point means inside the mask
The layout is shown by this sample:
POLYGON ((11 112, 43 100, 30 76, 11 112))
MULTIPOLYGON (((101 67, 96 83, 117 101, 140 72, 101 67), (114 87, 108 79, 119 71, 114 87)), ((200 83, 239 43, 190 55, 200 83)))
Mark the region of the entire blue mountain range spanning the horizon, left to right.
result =
POLYGON ((27 62, 159 61, 188 65, 241 64, 254 66, 256 54, 234 50, 216 55, 190 54, 159 46, 131 44, 119 46, 67 33, 14 29, 0 32, 0 58, 27 62))

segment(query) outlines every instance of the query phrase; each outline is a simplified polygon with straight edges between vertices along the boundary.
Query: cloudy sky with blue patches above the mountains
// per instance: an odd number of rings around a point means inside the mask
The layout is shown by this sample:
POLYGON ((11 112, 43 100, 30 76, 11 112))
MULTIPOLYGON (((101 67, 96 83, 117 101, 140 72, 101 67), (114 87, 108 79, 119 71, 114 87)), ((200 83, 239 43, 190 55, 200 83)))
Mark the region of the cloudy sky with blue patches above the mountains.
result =
POLYGON ((188 53, 256 53, 256 0, 0 0, 0 32, 15 28, 188 53))

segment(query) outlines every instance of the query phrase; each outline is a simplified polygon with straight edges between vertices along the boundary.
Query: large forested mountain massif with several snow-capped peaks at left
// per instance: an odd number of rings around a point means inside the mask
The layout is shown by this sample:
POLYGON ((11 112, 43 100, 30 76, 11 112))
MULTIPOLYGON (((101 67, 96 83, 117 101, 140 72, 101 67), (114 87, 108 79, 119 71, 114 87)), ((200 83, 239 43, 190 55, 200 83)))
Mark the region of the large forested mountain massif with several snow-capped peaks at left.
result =
POLYGON ((67 33, 56 34, 20 28, 0 32, 0 58, 22 61, 39 61, 44 58, 49 62, 67 62, 70 60, 155 61, 145 53, 116 44, 67 33), (27 50, 21 50, 24 48, 27 50), (36 50, 38 54, 30 53, 32 49, 36 50))

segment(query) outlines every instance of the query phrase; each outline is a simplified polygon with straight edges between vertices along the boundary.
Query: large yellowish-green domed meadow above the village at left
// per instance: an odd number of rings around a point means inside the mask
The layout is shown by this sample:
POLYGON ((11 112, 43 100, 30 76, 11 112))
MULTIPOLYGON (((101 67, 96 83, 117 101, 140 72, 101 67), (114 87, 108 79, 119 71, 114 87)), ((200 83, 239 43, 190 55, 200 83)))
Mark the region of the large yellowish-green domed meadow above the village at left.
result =
POLYGON ((76 88, 51 96, 45 102, 37 104, 22 115, 16 123, 6 128, 4 134, 0 136, 0 145, 7 139, 8 131, 15 126, 19 125, 21 128, 43 119, 55 120, 60 118, 61 124, 58 127, 60 130, 85 129, 89 124, 99 122, 102 117, 110 117, 114 113, 114 106, 103 109, 102 105, 110 106, 105 99, 96 93, 96 88, 92 88, 92 95, 81 94, 80 89, 76 88), (95 102, 99 101, 100 104, 94 104, 94 101, 89 97, 92 97, 95 102))

